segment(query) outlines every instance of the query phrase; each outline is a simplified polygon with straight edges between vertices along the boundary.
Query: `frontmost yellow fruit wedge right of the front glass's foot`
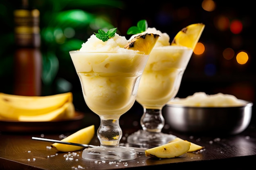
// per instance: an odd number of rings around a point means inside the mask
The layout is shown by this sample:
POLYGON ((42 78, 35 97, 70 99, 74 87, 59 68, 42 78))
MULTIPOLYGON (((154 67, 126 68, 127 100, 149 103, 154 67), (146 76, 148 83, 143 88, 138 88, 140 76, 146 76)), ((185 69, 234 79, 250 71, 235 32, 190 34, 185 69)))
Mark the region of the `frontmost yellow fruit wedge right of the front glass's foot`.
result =
POLYGON ((157 146, 157 147, 145 150, 145 155, 148 157, 157 157, 157 158, 175 158, 188 152, 189 148, 190 148, 189 141, 177 140, 174 142, 170 142, 168 144, 164 144, 161 146, 157 146))

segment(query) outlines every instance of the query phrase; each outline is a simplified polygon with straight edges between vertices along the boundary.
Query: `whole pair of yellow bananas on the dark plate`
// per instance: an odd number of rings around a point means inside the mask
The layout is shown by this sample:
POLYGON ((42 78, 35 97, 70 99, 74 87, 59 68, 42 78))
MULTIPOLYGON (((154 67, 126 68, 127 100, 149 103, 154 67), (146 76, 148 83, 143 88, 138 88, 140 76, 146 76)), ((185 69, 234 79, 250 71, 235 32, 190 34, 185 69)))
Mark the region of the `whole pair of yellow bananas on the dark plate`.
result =
POLYGON ((74 117, 71 92, 49 96, 0 93, 0 120, 53 121, 74 117))

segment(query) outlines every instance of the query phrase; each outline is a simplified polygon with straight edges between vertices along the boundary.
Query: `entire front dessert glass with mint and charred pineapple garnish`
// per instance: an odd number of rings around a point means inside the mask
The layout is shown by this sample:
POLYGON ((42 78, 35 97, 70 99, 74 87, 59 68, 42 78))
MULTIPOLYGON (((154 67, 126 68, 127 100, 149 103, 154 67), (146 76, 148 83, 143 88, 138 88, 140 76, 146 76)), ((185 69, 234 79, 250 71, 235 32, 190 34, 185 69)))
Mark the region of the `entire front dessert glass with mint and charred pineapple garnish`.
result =
POLYGON ((82 157, 93 161, 127 161, 135 150, 119 147, 119 117, 134 104, 140 77, 159 35, 146 33, 128 42, 116 33, 99 30, 70 51, 88 107, 101 119, 97 130, 100 146, 86 148, 82 157), (108 146, 108 147, 106 147, 108 146))

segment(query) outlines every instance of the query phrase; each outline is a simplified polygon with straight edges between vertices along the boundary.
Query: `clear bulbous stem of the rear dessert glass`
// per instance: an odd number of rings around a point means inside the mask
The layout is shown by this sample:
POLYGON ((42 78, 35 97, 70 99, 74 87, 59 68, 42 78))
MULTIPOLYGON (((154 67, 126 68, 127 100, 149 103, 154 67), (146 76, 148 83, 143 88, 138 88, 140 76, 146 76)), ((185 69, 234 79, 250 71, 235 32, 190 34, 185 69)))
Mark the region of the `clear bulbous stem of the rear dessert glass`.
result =
POLYGON ((144 108, 144 113, 140 119, 140 124, 143 130, 148 132, 161 132, 164 127, 164 117, 162 109, 147 109, 144 108))

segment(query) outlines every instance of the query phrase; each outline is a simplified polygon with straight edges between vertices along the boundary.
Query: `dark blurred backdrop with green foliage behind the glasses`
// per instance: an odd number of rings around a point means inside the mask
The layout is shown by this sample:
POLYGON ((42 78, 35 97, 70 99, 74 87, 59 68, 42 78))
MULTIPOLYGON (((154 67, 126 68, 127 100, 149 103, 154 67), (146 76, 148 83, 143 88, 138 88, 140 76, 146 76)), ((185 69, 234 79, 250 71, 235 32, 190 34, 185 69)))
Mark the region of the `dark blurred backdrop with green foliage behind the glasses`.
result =
MULTIPOLYGON (((171 40, 183 27, 202 22, 206 25, 199 42, 205 46, 201 55, 193 54, 184 73, 177 97, 195 92, 226 93, 255 102, 255 18, 249 0, 213 1, 215 8, 202 8, 205 0, 165 1, 146 0, 29 0, 40 11, 41 51, 43 55, 42 95, 71 91, 77 110, 89 111, 83 101, 79 79, 68 51, 80 49, 98 29, 117 27, 117 33, 126 34, 130 26, 146 19, 149 27, 168 33, 171 40), (220 18, 228 19, 227 28, 220 18), (243 24, 243 30, 232 33, 228 29, 233 20, 243 24), (222 29, 221 29, 222 28, 222 29), (236 58, 223 59, 226 48, 234 53, 246 51, 249 60, 238 64, 236 58)), ((21 0, 0 1, 0 92, 13 93, 13 11, 21 0)), ((135 102, 130 110, 142 115, 135 102)))

